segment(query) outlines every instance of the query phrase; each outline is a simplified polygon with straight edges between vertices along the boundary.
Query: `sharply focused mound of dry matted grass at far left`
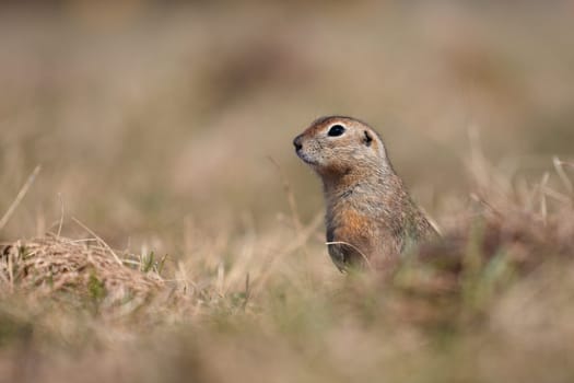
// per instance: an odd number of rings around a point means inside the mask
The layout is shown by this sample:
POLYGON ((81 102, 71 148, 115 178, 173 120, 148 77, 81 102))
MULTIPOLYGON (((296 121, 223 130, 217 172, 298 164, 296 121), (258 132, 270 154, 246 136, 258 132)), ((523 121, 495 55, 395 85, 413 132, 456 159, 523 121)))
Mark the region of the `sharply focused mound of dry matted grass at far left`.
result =
POLYGON ((110 249, 97 242, 94 244, 95 241, 46 236, 9 245, 2 253, 4 285, 12 291, 38 295, 106 298, 106 306, 132 304, 133 300, 137 306, 163 287, 156 274, 133 269, 134 266, 147 269, 151 265, 145 267, 130 257, 121 260, 110 249), (133 265, 132 268, 125 263, 133 265))

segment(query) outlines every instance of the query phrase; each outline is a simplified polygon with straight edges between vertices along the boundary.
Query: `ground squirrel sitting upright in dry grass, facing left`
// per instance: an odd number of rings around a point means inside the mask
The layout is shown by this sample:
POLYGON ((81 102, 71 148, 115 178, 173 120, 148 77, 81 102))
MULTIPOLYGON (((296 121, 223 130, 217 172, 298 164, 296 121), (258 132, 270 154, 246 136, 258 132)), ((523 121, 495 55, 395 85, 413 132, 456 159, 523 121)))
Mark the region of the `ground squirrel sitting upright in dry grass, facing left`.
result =
POLYGON ((293 144, 323 179, 327 245, 340 270, 388 269, 411 244, 437 236, 395 173, 380 136, 365 123, 323 117, 293 144))

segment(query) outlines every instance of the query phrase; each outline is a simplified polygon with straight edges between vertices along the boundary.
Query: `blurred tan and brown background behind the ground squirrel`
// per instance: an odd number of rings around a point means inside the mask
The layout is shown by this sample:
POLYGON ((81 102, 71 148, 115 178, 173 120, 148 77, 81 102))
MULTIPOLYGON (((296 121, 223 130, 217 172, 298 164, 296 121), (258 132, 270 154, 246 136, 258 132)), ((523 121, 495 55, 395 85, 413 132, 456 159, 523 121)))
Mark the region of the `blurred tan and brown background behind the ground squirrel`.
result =
POLYGON ((572 158, 573 15, 571 1, 3 2, 0 212, 42 171, 0 241, 55 231, 62 211, 69 235, 75 217, 165 251, 190 224, 281 230, 284 182, 307 222, 320 185, 292 139, 326 114, 375 127, 441 220, 468 196, 469 132, 532 179, 572 158))

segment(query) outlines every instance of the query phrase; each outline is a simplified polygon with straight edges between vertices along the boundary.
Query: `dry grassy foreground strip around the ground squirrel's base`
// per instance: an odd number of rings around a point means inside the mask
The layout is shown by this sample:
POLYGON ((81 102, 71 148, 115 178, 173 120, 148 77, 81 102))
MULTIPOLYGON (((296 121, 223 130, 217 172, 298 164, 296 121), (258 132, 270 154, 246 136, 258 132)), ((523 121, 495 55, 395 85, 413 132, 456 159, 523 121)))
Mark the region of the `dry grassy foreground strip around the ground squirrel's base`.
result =
POLYGON ((2 380, 570 382, 563 165, 557 188, 524 190, 476 167, 470 214, 386 278, 331 272, 320 220, 291 244, 243 234, 171 262, 22 240, 3 253, 2 380))

